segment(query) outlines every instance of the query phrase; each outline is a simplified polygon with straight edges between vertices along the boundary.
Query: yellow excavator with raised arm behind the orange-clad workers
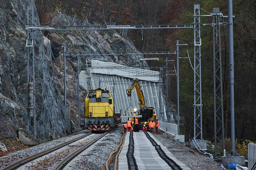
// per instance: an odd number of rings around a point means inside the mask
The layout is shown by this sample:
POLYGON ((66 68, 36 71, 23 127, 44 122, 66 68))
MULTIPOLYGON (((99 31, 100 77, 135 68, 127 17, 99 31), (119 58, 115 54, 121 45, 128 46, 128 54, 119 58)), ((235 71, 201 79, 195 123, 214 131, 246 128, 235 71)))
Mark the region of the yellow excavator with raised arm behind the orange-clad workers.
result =
MULTIPOLYGON (((136 93, 139 99, 139 115, 141 115, 142 117, 139 118, 139 122, 140 124, 143 123, 149 123, 151 121, 151 119, 154 120, 154 122, 156 122, 156 113, 154 112, 154 107, 147 107, 147 101, 144 98, 143 92, 140 89, 140 84, 139 84, 139 79, 138 78, 133 78, 132 84, 130 85, 130 87, 126 90, 127 96, 130 97, 130 101, 131 101, 131 96, 132 96, 132 89, 135 87, 136 89, 136 93)), ((133 118, 132 118, 133 121, 133 118)))

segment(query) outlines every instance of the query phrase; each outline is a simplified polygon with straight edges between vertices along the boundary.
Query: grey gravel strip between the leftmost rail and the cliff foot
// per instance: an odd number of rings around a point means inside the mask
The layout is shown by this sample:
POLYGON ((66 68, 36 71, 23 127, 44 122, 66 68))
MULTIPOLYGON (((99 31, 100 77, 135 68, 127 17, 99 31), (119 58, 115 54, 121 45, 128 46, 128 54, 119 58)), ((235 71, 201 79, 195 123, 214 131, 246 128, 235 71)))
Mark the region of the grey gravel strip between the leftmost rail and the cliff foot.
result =
POLYGON ((72 140, 76 137, 80 137, 82 135, 84 135, 85 133, 89 133, 89 130, 83 130, 81 132, 66 136, 66 137, 61 137, 59 139, 47 142, 47 143, 43 143, 43 144, 39 144, 36 146, 33 146, 31 148, 27 148, 25 150, 21 150, 21 151, 17 151, 17 152, 13 152, 10 153, 8 155, 4 155, 3 157, 0 157, 0 168, 3 168, 4 166, 7 166, 11 163, 13 163, 14 161, 18 161, 20 159, 23 159, 25 157, 28 157, 30 155, 42 152, 44 150, 47 150, 49 148, 52 148, 54 146, 57 146, 59 144, 62 144, 64 142, 67 142, 69 140, 72 140))

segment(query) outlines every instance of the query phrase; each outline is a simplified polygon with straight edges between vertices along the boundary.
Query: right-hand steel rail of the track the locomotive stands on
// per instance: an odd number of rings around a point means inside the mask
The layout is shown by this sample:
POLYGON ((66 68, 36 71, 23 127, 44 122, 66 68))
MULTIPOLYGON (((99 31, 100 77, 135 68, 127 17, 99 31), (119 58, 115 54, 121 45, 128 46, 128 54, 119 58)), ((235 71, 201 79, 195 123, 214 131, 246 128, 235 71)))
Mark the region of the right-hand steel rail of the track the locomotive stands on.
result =
POLYGON ((99 137, 93 139, 88 144, 82 146, 81 148, 77 149, 76 151, 69 154, 66 158, 62 159, 56 166, 54 166, 53 170, 61 170, 63 169, 72 159, 74 159, 77 155, 82 153, 84 150, 95 144, 98 140, 100 140, 102 137, 106 136, 112 129, 108 130, 107 132, 101 134, 99 137))

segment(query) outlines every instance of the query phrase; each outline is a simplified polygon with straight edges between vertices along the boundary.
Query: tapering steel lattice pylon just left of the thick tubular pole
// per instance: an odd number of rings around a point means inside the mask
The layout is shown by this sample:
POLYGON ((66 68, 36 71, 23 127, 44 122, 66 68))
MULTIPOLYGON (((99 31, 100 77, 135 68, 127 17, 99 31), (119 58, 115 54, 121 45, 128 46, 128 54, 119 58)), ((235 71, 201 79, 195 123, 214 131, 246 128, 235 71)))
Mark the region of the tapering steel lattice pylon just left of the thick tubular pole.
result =
POLYGON ((221 67, 220 8, 213 8, 213 98, 214 98, 214 156, 224 150, 224 118, 221 67), (217 147, 222 143, 222 148, 217 147))

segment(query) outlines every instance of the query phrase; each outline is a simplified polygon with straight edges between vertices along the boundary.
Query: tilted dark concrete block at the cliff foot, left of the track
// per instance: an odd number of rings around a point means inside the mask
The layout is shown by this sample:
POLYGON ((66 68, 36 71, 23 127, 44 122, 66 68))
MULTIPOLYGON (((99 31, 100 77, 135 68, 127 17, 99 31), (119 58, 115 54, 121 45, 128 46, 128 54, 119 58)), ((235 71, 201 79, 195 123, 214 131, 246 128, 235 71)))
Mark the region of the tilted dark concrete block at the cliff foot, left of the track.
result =
POLYGON ((39 140, 30 135, 26 130, 19 128, 19 141, 26 145, 37 145, 39 140))

